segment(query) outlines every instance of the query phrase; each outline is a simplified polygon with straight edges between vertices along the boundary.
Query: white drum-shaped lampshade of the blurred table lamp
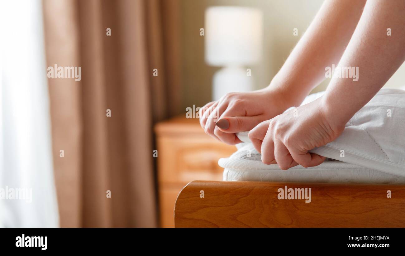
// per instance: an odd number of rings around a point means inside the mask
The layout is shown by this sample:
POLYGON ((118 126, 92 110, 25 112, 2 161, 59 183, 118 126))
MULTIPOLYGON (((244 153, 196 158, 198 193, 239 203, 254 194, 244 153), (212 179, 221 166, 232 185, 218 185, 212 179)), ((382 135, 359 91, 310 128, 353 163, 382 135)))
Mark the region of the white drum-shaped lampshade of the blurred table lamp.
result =
POLYGON ((259 9, 214 6, 205 11, 205 61, 243 66, 260 60, 263 15, 259 9))

